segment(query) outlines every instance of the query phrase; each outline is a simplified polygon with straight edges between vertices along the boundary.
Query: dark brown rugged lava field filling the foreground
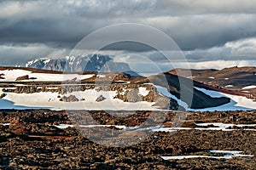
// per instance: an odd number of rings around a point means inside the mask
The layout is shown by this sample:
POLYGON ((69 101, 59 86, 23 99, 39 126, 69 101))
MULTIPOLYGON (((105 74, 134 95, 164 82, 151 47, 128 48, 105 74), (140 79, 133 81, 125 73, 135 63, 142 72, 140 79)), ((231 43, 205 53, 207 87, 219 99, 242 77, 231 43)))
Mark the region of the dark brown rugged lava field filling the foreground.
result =
MULTIPOLYGON (((2 123, 0 125, 0 168, 255 169, 256 111, 189 112, 187 114, 174 111, 157 113, 89 111, 88 113, 88 116, 97 123, 109 125, 110 133, 104 136, 107 142, 108 139, 112 142, 113 138, 124 138, 121 134, 124 129, 113 125, 136 127, 152 119, 151 121, 155 124, 149 123, 148 127, 153 124, 162 127, 175 127, 180 124, 183 128, 172 132, 154 132, 147 139, 131 146, 109 147, 96 144, 90 141, 88 136, 83 135, 101 134, 99 127, 79 127, 86 119, 83 111, 2 110, 0 111, 0 123, 2 123), (166 119, 162 122, 157 116, 163 115, 166 119), (60 124, 74 124, 74 122, 77 124, 73 127, 59 127, 60 124), (214 130, 216 125, 203 127, 198 124, 206 122, 233 123, 237 126, 214 130), (239 124, 254 125, 240 127, 239 124), (216 158, 214 156, 227 155, 211 153, 209 150, 240 150, 242 155, 247 156, 234 156, 230 159, 216 158), (165 160, 161 156, 212 157, 165 160)), ((131 132, 137 133, 137 131, 131 132)), ((135 138, 136 136, 131 134, 125 136, 127 141, 135 138)))

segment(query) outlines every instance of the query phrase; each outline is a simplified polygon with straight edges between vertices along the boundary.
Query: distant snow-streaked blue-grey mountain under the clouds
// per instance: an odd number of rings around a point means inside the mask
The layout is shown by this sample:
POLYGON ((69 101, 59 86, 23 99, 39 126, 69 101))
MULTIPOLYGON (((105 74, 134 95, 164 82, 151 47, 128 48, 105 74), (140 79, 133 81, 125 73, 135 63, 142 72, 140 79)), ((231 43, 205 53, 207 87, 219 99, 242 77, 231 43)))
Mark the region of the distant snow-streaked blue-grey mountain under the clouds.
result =
POLYGON ((113 62, 109 55, 90 54, 84 56, 67 56, 63 59, 35 59, 26 63, 27 68, 50 71, 131 71, 125 63, 113 62))

